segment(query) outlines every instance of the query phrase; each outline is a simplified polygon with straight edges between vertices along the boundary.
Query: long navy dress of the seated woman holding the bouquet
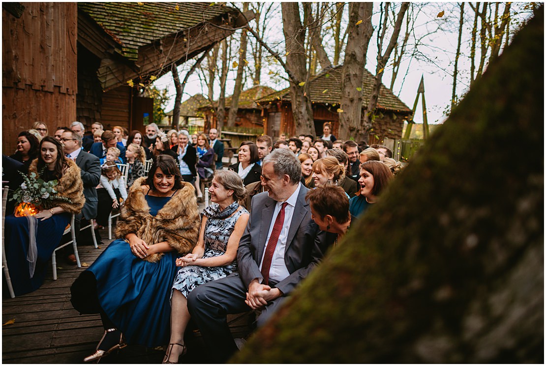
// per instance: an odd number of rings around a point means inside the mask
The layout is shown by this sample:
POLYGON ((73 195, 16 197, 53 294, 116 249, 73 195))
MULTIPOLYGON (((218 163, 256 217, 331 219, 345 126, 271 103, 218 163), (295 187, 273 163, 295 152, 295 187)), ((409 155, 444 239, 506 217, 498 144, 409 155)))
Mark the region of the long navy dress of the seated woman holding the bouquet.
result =
MULTIPOLYGON (((8 215, 4 223, 4 245, 5 256, 8 262, 9 276, 15 296, 37 290, 45 279, 49 267, 51 254, 59 245, 63 236, 64 228, 70 221, 70 214, 64 212, 56 214, 49 219, 37 220, 36 247, 38 256, 34 275, 30 276, 28 254, 28 219, 26 217, 15 217, 8 215)), ((3 279, 3 296, 9 297, 8 286, 3 279)))

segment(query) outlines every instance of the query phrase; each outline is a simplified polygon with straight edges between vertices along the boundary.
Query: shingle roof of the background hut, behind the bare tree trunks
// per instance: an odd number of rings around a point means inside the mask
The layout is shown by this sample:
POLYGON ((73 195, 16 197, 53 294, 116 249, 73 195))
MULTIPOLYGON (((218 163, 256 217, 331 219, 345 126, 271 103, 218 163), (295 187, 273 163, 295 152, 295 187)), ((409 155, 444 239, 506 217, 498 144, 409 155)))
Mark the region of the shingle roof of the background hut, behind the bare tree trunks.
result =
MULTIPOLYGON (((324 103, 336 105, 341 101, 341 81, 343 75, 343 66, 336 66, 324 70, 320 74, 314 76, 309 83, 309 91, 311 95, 311 101, 314 103, 324 103)), ((373 86, 373 75, 368 71, 364 70, 364 95, 363 95, 363 106, 366 107, 368 100, 370 98, 370 93, 373 86)), ((269 102, 275 101, 290 101, 290 88, 272 93, 263 98, 257 99, 261 105, 268 104, 269 102)), ((379 89, 379 99, 377 102, 377 108, 392 110, 392 111, 401 111, 410 113, 411 109, 402 102, 398 97, 394 95, 387 87, 381 84, 379 89)))

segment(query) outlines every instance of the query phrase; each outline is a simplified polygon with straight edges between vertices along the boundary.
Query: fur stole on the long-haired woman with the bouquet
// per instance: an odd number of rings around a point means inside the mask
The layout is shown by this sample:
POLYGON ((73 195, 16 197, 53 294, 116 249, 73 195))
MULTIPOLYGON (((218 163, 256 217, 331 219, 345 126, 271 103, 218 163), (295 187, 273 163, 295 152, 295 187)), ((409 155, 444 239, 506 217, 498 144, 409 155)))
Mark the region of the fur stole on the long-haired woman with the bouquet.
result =
MULTIPOLYGON (((81 170, 72 160, 65 159, 64 161, 67 165, 55 190, 57 191, 58 196, 66 197, 70 199, 72 203, 54 200, 51 207, 60 207, 70 214, 79 214, 85 203, 81 170)), ((34 159, 28 167, 28 173, 32 172, 38 174, 38 159, 34 159)))

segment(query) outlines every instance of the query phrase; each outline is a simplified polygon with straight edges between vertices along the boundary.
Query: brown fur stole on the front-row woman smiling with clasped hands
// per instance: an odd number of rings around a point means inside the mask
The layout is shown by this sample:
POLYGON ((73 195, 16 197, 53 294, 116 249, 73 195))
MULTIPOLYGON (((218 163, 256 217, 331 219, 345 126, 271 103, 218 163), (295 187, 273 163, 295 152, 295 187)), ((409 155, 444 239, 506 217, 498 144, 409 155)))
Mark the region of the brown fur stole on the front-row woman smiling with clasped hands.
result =
MULTIPOLYGON (((121 220, 117 223, 116 238, 125 239, 125 235, 133 233, 148 245, 167 241, 179 253, 191 252, 197 244, 200 228, 193 185, 182 182, 182 188, 155 217, 150 215, 150 206, 141 188, 143 185, 146 185, 145 176, 135 180, 130 187, 121 209, 121 220)), ((162 253, 155 253, 145 260, 157 262, 162 256, 162 253)))

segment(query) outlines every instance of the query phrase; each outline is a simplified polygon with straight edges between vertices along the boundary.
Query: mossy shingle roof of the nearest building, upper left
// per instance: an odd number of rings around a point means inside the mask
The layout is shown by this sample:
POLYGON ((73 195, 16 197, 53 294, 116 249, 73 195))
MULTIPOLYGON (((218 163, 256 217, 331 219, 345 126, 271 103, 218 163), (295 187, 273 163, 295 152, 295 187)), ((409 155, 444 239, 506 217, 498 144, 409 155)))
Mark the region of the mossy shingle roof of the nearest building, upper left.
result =
POLYGON ((233 12, 215 3, 78 3, 121 45, 121 54, 137 60, 138 49, 205 20, 233 12))

